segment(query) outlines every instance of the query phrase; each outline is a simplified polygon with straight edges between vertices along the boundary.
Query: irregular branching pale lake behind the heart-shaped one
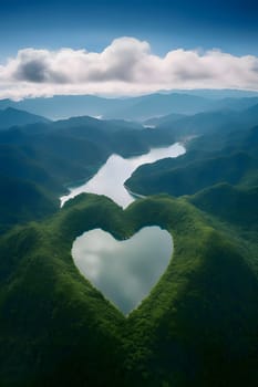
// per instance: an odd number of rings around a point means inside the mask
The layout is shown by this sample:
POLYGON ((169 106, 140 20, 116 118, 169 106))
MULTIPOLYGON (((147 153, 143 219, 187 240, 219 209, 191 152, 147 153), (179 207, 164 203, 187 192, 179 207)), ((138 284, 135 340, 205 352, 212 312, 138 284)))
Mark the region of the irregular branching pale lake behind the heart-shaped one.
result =
POLYGON ((61 207, 65 203, 65 201, 82 192, 92 192, 105 195, 113 199, 117 205, 125 208, 132 201, 134 201, 135 198, 128 194, 124 187, 124 181, 130 178, 137 167, 143 164, 154 163, 162 158, 177 157, 184 153, 184 146, 176 143, 164 148, 153 148, 146 155, 131 158, 123 158, 118 155, 112 155, 92 179, 79 187, 70 188, 70 194, 60 198, 61 207))

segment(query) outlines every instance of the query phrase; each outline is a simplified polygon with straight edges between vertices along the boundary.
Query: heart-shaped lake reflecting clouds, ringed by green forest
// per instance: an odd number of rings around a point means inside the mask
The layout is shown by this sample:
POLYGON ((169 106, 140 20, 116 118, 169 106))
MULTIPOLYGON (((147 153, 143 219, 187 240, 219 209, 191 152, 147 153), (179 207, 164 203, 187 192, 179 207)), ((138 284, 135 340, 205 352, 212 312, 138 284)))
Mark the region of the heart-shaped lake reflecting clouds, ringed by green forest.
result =
POLYGON ((76 238, 72 257, 80 272, 128 314, 147 296, 172 258, 173 240, 159 227, 145 227, 118 241, 94 229, 76 238))

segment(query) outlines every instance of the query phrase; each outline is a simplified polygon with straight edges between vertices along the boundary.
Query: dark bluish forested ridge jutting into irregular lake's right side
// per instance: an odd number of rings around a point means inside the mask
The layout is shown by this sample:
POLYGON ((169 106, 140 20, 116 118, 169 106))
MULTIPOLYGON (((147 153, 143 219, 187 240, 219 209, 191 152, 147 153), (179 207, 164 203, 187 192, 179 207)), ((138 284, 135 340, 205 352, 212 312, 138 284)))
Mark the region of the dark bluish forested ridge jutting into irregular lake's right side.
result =
POLYGON ((193 195, 218 182, 241 184, 256 175, 258 161, 246 153, 205 158, 186 166, 174 167, 172 159, 140 167, 125 182, 133 192, 173 196, 193 195))

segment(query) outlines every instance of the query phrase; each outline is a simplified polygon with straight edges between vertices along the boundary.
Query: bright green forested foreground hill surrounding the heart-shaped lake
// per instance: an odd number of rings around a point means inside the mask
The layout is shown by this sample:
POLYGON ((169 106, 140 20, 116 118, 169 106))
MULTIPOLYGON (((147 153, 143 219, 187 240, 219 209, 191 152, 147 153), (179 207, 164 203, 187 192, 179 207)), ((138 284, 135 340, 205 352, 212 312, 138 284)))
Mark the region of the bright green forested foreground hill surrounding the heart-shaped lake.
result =
POLYGON ((251 257, 186 200, 153 197, 123 211, 81 195, 3 236, 0 252, 2 386, 256 385, 251 257), (122 239, 148 224, 173 234, 174 259, 125 318, 82 278, 71 247, 92 228, 122 239))

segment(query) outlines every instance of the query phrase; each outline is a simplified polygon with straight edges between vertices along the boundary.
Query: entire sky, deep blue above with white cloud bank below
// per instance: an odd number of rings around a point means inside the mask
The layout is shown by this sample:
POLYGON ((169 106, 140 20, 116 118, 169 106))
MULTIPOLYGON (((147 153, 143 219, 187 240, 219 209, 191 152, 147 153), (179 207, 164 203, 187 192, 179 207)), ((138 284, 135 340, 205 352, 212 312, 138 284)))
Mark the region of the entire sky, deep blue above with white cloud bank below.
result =
POLYGON ((258 90, 256 0, 0 0, 0 98, 258 90))

